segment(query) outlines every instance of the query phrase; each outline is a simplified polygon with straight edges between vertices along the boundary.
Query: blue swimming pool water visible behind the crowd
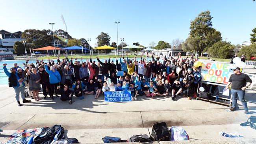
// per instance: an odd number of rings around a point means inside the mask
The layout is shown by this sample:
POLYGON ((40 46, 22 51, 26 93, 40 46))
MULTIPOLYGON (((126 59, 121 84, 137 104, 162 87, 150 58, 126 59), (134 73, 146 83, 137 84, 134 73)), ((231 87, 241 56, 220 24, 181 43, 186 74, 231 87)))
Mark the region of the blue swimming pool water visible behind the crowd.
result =
MULTIPOLYGON (((104 62, 106 58, 103 58, 103 59, 100 59, 100 61, 104 62)), ((133 58, 130 58, 130 59, 133 59, 133 58)), ((140 58, 137 58, 136 60, 139 60, 140 58)), ((78 59, 78 61, 80 61, 81 59, 78 59)), ((110 59, 110 61, 114 61, 115 63, 115 59, 110 59)), ((119 58, 117 59, 118 62, 119 62, 119 58)), ((147 61, 151 60, 151 57, 148 57, 147 58, 147 61)), ((96 61, 97 62, 97 59, 92 59, 92 61, 96 61)), ((13 63, 17 63, 18 66, 20 66, 22 69, 23 69, 23 64, 22 63, 25 63, 26 60, 7 60, 7 61, 0 61, 0 84, 8 84, 8 77, 6 76, 6 74, 4 73, 4 69, 3 69, 3 64, 4 63, 7 63, 7 70, 10 70, 10 68, 13 67, 13 63)), ((35 62, 36 60, 29 60, 28 63, 34 63, 35 65, 35 62)), ((45 63, 48 63, 48 60, 47 59, 44 59, 44 62, 45 63)), ((54 62, 56 63, 57 62, 57 59, 54 59, 54 62)), ((83 62, 86 62, 86 59, 83 59, 83 62)), ((73 63, 74 63, 74 59, 73 59, 73 63)))

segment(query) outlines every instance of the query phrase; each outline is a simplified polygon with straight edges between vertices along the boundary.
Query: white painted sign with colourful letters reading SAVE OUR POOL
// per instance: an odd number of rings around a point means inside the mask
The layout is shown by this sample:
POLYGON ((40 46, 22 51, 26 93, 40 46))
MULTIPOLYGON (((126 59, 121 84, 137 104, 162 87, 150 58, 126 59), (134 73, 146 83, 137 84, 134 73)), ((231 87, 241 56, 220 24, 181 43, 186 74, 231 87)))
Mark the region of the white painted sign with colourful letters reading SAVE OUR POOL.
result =
POLYGON ((204 63, 202 65, 201 75, 202 81, 213 83, 228 83, 230 75, 233 74, 234 64, 228 63, 204 63))

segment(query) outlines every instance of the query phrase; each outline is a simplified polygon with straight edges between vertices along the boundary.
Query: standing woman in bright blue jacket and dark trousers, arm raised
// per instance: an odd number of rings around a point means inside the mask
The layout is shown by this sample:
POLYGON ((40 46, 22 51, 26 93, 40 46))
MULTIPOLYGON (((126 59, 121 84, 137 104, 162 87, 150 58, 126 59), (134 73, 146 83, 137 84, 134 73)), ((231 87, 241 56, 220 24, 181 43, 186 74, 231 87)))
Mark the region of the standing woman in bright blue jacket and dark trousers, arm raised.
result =
POLYGON ((49 74, 50 79, 50 97, 53 100, 53 93, 55 91, 55 96, 59 97, 57 94, 57 87, 59 86, 59 82, 61 81, 61 76, 57 70, 55 70, 54 66, 50 67, 51 70, 48 69, 47 64, 45 64, 45 71, 49 74))

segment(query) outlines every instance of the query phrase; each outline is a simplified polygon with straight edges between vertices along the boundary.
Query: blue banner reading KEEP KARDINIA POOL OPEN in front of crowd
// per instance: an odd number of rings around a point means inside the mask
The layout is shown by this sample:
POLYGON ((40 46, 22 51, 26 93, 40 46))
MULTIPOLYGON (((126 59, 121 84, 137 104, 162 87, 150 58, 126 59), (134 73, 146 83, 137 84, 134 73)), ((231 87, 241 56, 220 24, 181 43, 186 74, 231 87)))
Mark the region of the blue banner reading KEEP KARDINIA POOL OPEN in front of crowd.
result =
POLYGON ((104 92, 106 102, 126 102, 132 101, 131 91, 115 91, 115 92, 104 92))

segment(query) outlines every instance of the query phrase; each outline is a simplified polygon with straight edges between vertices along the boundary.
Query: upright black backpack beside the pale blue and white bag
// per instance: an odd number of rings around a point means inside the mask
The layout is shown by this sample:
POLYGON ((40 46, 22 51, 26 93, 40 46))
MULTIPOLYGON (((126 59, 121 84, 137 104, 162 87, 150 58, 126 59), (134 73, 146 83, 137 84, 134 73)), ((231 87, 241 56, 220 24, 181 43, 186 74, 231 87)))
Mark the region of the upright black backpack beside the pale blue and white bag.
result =
POLYGON ((165 122, 156 122, 152 126, 152 133, 150 135, 152 141, 169 141, 171 133, 165 122))

